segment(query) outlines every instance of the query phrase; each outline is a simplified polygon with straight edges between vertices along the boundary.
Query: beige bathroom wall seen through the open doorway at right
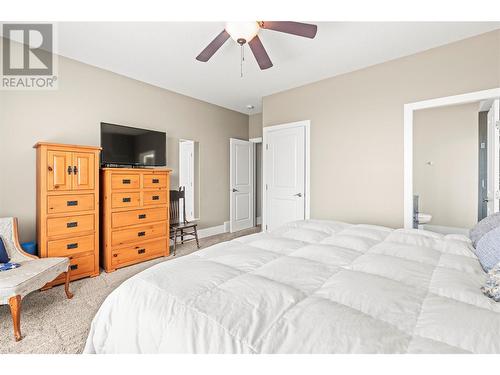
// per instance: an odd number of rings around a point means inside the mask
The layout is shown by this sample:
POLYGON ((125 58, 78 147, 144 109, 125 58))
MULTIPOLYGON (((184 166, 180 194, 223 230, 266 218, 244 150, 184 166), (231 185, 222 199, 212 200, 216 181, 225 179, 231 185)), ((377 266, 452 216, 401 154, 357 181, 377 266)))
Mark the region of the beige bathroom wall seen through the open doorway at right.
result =
POLYGON ((479 103, 416 111, 413 188, 429 225, 477 223, 479 103), (429 165, 432 163, 432 165, 429 165))

